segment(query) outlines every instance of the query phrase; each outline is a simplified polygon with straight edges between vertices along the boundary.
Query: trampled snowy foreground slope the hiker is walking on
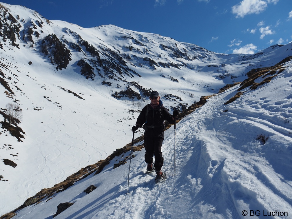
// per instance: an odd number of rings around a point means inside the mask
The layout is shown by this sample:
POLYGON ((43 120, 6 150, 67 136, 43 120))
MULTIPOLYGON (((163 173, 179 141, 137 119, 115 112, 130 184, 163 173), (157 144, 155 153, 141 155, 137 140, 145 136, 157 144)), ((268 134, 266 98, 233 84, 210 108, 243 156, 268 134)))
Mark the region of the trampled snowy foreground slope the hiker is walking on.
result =
POLYGON ((144 151, 137 151, 128 194, 129 162, 113 169, 116 158, 101 173, 16 212, 14 218, 53 218, 64 202, 74 204, 55 218, 225 219, 245 213, 247 218, 292 218, 292 62, 269 84, 245 88, 244 95, 225 105, 238 88, 209 98, 182 119, 176 139, 173 127, 166 131, 165 182, 155 184, 154 175, 144 173, 144 151), (268 137, 265 144, 256 140, 260 134, 268 137), (90 185, 97 188, 86 194, 90 185))

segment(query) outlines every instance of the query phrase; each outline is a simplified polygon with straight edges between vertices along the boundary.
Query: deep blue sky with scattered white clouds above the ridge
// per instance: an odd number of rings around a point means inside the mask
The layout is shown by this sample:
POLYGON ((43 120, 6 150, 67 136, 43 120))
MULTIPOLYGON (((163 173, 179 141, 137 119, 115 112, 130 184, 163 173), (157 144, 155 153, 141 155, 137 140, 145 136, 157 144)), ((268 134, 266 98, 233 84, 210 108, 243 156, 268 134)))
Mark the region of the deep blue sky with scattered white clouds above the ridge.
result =
MULTIPOLYGON (((1 0, 0 0, 1 1, 1 0)), ((292 42, 291 0, 7 0, 49 20, 113 24, 218 53, 256 53, 292 42)))

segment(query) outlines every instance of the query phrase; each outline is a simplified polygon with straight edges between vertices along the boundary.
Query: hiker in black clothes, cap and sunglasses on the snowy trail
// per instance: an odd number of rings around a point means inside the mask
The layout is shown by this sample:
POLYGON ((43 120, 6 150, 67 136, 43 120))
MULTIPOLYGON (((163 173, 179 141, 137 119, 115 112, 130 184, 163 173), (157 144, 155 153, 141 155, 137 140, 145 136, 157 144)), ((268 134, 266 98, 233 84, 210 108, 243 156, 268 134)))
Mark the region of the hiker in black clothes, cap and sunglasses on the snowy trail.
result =
POLYGON ((161 152, 162 141, 164 140, 164 120, 167 120, 170 124, 174 124, 178 110, 175 109, 173 115, 171 115, 163 106, 157 91, 151 91, 150 100, 151 103, 143 107, 137 118, 136 125, 132 127, 132 130, 135 132, 142 126, 145 129, 144 148, 146 150, 145 162, 147 163, 147 171, 152 171, 154 155, 156 179, 160 179, 162 177, 161 168, 164 161, 161 152))

